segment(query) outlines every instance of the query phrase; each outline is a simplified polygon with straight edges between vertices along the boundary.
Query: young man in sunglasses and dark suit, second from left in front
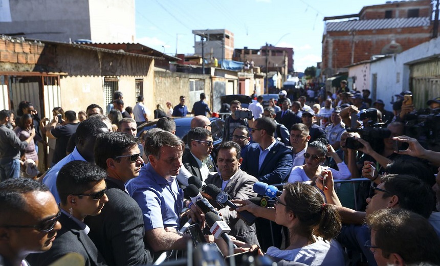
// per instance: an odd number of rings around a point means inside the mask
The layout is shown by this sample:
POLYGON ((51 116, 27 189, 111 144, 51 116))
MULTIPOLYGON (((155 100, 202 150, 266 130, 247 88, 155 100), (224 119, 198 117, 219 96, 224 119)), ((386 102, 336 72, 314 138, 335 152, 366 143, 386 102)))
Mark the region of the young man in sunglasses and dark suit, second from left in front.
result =
POLYGON ((108 202, 105 194, 106 176, 105 170, 85 161, 72 161, 61 168, 56 181, 61 198, 61 229, 49 251, 27 258, 31 265, 49 265, 72 252, 84 258, 84 265, 106 265, 95 244, 87 236, 90 229, 84 224, 87 215, 100 214, 108 202))

